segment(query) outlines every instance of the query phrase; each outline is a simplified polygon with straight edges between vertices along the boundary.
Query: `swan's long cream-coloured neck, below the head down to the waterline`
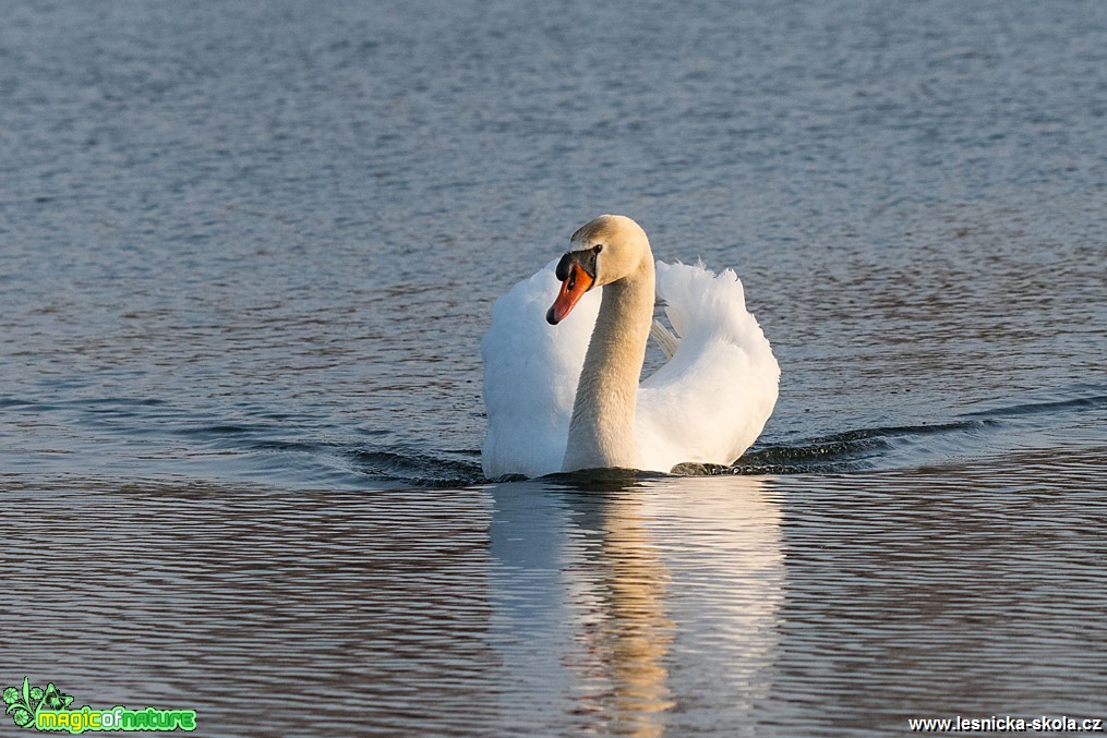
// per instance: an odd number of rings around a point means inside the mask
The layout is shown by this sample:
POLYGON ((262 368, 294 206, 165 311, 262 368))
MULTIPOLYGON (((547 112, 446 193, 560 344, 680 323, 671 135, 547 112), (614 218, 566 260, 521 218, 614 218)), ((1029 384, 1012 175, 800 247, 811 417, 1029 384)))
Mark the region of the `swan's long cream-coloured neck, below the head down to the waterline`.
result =
POLYGON ((562 471, 641 468, 634 410, 653 322, 653 257, 603 287, 569 423, 562 471))

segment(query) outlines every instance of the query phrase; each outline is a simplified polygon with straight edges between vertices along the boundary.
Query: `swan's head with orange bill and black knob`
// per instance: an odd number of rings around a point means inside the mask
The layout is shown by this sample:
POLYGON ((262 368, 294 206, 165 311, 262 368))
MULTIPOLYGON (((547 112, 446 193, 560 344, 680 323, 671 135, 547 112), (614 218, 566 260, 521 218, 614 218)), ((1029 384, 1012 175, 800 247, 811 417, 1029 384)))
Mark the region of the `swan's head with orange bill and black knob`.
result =
POLYGON ((572 248, 557 264, 561 291, 546 313, 551 325, 565 320, 584 292, 625 279, 653 259, 645 231, 627 216, 594 218, 578 228, 569 241, 572 248))

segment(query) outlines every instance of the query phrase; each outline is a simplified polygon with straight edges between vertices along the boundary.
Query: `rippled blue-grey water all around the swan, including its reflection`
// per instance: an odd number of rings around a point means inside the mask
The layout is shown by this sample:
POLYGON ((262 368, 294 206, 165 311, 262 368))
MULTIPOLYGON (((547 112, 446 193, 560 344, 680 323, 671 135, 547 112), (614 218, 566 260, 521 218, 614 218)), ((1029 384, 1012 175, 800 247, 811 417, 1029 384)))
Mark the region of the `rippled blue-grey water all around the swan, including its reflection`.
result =
POLYGON ((3 12, 6 686, 205 735, 1107 717, 1107 6, 3 12), (601 211, 743 278, 745 474, 480 479, 492 302, 601 211))

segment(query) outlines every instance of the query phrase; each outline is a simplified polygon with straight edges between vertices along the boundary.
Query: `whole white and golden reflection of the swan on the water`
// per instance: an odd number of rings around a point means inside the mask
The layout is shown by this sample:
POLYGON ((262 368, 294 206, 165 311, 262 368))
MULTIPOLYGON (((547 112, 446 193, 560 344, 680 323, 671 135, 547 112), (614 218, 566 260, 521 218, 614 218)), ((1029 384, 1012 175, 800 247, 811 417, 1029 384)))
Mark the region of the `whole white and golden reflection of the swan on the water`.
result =
POLYGON ((752 731, 784 596, 780 512, 759 480, 573 477, 492 495, 493 644, 523 682, 510 694, 560 703, 582 729, 752 731))

